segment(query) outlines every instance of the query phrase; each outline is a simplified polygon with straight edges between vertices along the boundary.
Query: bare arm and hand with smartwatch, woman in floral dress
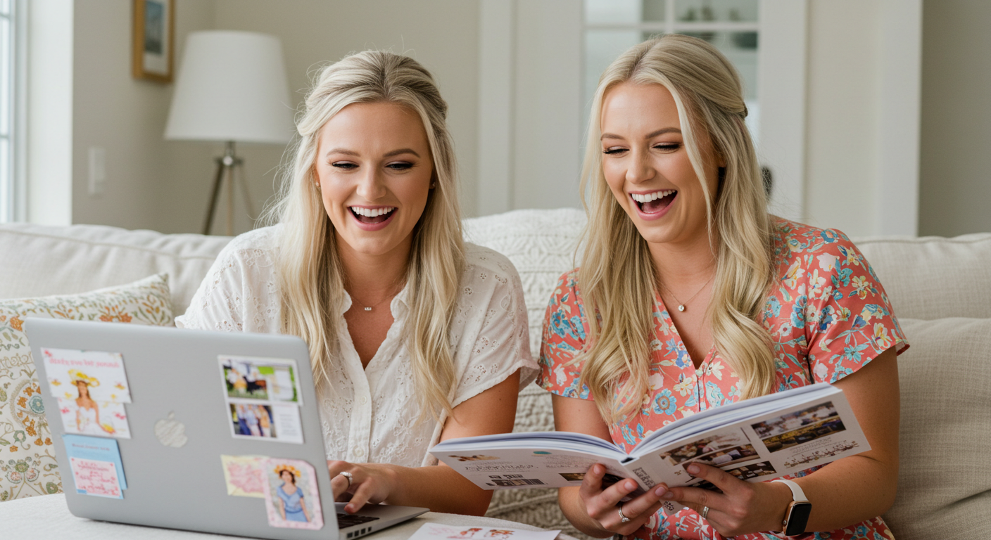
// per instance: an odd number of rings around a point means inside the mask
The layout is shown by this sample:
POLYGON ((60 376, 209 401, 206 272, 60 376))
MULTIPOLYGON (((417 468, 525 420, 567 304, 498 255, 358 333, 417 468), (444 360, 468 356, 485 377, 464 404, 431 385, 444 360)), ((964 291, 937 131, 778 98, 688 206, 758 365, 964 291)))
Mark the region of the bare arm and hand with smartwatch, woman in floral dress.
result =
MULTIPOLYGON (((795 480, 812 501, 807 531, 840 529, 881 515, 894 502, 898 485, 900 402, 895 349, 881 353, 834 385, 842 388, 871 449, 795 480)), ((696 510, 709 506, 709 521, 723 536, 781 530, 785 509, 792 500, 787 486, 749 484, 707 466, 693 474, 723 493, 673 487, 670 498, 696 510)))

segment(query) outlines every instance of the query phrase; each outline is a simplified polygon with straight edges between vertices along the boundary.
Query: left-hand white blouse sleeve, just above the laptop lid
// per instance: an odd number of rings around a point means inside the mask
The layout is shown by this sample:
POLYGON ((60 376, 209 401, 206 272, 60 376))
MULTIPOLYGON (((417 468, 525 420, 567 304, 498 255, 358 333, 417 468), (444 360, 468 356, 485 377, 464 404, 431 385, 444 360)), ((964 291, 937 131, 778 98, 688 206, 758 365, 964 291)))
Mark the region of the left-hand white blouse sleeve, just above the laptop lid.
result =
POLYGON ((268 244, 271 228, 231 241, 207 271, 178 328, 277 333, 280 297, 268 244))

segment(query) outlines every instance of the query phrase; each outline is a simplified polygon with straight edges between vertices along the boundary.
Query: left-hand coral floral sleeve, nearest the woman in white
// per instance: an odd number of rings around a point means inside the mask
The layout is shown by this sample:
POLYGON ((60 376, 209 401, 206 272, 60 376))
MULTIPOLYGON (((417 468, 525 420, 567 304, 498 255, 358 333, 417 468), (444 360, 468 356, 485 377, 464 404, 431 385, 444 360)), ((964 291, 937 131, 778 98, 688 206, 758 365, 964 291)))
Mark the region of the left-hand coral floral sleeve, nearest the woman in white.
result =
POLYGON ((541 387, 565 397, 592 399, 588 386, 581 382, 581 365, 572 363, 585 347, 588 330, 578 293, 578 270, 571 270, 558 280, 544 314, 537 376, 541 387))

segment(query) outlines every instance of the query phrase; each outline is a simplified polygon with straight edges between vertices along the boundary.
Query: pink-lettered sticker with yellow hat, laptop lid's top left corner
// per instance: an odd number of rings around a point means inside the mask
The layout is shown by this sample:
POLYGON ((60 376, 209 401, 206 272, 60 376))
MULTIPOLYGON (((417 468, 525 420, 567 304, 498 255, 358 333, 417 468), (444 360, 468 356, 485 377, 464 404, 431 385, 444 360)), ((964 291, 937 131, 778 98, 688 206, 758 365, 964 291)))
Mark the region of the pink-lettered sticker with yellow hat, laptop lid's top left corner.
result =
POLYGON ((120 353, 42 349, 49 390, 55 397, 130 403, 124 357, 120 353))

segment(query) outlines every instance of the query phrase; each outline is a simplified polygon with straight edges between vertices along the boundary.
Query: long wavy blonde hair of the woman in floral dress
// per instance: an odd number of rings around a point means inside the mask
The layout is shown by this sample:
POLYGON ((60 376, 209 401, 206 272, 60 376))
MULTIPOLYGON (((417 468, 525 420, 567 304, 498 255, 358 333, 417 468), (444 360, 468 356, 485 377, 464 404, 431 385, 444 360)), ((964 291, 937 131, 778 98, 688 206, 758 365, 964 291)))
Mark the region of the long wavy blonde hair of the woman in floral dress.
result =
POLYGON ((659 84, 674 96, 689 160, 706 195, 710 238, 716 239, 716 278, 706 313, 716 349, 739 376, 743 398, 770 393, 775 360, 757 319, 772 281, 773 222, 744 124, 742 86, 715 47, 679 35, 626 51, 606 68, 596 90, 582 170, 589 224, 578 286, 590 326, 590 339, 576 358, 584 362, 582 381, 610 421, 637 409, 649 389, 658 276, 647 242, 606 184, 600 142, 604 96, 624 82, 659 84), (716 193, 707 185, 699 150, 705 138, 726 163, 716 193))

